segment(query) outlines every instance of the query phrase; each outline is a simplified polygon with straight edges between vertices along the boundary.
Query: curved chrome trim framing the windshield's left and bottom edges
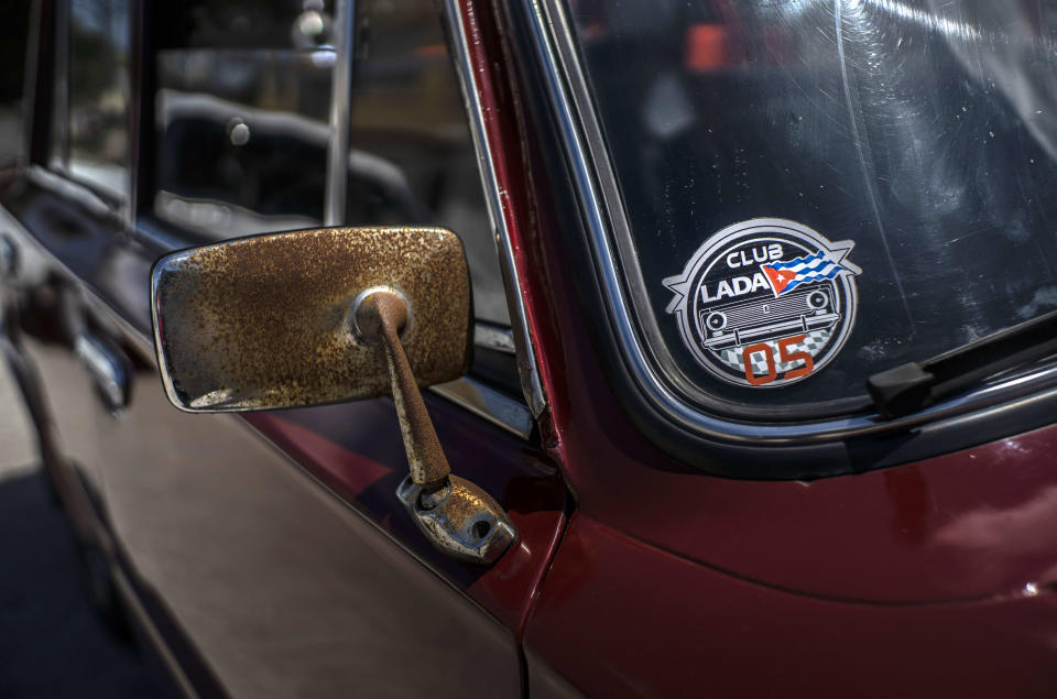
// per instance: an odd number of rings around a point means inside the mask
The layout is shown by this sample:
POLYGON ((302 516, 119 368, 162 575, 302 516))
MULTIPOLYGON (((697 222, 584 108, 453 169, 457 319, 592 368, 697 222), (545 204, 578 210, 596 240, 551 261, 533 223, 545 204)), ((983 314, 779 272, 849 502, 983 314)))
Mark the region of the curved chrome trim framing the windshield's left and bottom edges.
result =
MULTIPOLYGON (((615 174, 606 152, 601 130, 595 121, 593 105, 584 76, 565 7, 560 0, 526 0, 532 44, 545 77, 545 89, 557 118, 559 138, 566 150, 576 194, 581 204, 590 245, 598 265, 599 281, 611 313, 617 341, 630 374, 642 393, 669 422, 682 429, 727 443, 786 445, 822 443, 851 436, 908 428, 947 419, 970 409, 1007 407, 1000 403, 1033 402, 1057 394, 1057 367, 1026 371, 1012 379, 984 385, 966 395, 945 401, 900 419, 881 421, 875 414, 857 415, 808 423, 744 423, 701 412, 672 390, 651 363, 649 350, 640 341, 631 318, 628 290, 618 272, 619 255, 611 234, 613 228, 628 229, 615 188, 615 174), (612 183, 602 192, 600 182, 612 183), (608 198, 607 198, 608 195, 608 198), (615 197, 615 199, 614 199, 615 197)), ((632 251, 630 238, 618 240, 622 250, 632 251), (629 245, 630 248, 625 248, 629 245)), ((633 273, 639 274, 634 265, 633 273)), ((634 284, 632 284, 634 286, 634 284)), ((643 285, 640 283, 639 288, 643 285)), ((668 378, 671 380, 671 378, 668 378)))

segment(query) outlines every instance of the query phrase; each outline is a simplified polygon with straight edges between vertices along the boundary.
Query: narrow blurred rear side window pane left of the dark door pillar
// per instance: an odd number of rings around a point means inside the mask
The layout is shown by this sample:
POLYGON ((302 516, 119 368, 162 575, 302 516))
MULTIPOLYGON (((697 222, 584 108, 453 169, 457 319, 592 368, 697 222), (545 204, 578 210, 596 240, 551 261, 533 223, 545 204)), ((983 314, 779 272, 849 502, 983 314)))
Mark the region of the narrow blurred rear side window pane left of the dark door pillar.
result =
POLYGON ((128 196, 129 0, 70 0, 68 55, 67 167, 128 196))

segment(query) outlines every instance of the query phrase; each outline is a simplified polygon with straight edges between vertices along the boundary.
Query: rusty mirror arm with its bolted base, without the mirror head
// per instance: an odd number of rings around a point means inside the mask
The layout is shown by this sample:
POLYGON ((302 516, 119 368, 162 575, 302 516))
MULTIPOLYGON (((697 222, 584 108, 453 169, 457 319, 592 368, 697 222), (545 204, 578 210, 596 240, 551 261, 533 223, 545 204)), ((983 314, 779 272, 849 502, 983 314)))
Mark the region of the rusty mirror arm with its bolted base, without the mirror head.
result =
POLYGON ((491 565, 517 538, 510 516, 477 484, 451 474, 422 392, 400 341, 407 304, 392 292, 375 292, 353 309, 360 339, 385 349, 393 403, 411 473, 396 489, 418 529, 440 553, 491 565))

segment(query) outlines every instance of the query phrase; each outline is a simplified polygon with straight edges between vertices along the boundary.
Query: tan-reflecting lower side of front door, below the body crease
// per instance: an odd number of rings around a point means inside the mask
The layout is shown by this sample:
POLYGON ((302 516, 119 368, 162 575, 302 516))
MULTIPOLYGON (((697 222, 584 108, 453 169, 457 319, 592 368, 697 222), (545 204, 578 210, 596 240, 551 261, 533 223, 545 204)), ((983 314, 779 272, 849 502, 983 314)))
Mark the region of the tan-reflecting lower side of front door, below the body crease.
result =
POLYGON ((150 389, 100 454, 108 515, 226 690, 519 691, 512 632, 242 418, 203 425, 150 389), (466 674, 470 658, 489 671, 466 674))

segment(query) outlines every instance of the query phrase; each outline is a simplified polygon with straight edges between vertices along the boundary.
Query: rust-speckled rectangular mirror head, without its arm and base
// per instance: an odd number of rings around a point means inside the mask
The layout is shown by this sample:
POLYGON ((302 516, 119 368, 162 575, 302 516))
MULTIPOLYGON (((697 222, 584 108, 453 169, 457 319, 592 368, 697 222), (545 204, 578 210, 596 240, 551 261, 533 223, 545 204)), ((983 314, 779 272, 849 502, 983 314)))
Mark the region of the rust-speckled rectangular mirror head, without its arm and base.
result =
POLYGON ((466 373, 470 282, 451 231, 303 230, 162 258, 151 304, 170 400, 219 412, 389 395, 383 347, 353 327, 353 305, 371 290, 405 301, 400 338, 419 386, 466 373))

